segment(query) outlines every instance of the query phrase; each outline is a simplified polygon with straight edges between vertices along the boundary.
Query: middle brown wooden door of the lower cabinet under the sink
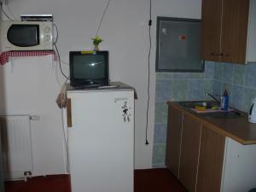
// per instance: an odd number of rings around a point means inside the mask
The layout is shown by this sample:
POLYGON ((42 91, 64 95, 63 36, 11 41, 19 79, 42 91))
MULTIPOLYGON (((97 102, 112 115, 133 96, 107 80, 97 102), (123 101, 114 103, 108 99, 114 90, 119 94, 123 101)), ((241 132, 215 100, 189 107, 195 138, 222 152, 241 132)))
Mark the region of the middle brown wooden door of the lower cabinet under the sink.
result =
POLYGON ((189 192, 195 192, 200 137, 201 123, 184 113, 179 179, 189 192))

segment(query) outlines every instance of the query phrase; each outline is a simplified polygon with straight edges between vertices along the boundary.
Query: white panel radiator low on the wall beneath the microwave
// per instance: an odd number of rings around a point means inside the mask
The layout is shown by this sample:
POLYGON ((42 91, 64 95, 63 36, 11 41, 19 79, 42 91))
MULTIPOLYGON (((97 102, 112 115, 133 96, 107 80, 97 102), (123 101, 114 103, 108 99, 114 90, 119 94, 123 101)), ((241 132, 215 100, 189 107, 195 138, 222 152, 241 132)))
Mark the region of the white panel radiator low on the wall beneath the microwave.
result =
POLYGON ((29 115, 0 116, 3 169, 6 180, 32 175, 32 139, 29 115))

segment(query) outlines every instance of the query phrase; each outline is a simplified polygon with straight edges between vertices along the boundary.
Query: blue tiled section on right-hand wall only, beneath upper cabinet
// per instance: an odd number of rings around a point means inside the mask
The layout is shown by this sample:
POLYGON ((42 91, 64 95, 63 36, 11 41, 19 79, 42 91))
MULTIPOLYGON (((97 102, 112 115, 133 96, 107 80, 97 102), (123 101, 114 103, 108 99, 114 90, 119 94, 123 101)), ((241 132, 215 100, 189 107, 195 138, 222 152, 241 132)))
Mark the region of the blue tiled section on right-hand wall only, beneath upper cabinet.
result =
POLYGON ((256 96, 256 63, 245 66, 215 63, 213 93, 228 90, 230 106, 247 112, 256 96))

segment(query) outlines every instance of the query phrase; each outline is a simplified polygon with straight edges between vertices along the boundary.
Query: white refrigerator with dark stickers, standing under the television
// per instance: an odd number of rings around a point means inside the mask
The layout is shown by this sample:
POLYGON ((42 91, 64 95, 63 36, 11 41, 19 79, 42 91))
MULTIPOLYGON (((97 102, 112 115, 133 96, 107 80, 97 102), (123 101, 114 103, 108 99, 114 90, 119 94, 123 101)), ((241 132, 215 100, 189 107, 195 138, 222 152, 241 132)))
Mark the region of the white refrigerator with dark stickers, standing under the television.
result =
POLYGON ((134 90, 71 89, 67 101, 72 192, 133 192, 134 90))

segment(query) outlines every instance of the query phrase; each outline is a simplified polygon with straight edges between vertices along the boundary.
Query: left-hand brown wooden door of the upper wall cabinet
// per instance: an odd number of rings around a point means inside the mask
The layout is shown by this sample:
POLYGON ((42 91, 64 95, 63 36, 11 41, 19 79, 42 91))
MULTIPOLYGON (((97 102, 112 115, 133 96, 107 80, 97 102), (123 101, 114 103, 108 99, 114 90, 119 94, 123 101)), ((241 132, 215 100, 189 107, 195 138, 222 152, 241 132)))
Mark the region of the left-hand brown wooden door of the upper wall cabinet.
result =
POLYGON ((203 60, 219 61, 222 0, 202 0, 201 56, 203 60))

